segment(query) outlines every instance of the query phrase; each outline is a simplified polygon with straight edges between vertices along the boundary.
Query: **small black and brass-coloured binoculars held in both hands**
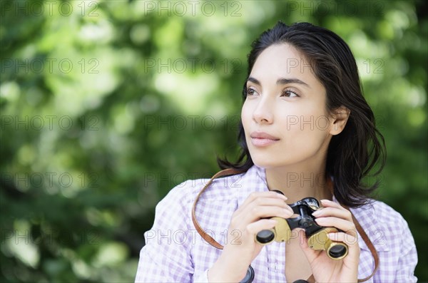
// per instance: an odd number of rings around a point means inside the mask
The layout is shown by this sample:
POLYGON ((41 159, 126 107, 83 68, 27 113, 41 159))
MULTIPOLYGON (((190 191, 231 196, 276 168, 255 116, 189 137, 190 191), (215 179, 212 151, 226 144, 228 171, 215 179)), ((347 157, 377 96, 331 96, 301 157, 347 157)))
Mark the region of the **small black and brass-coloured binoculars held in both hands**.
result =
MULTIPOLYGON (((280 191, 276 191, 282 194, 280 191)), ((290 240, 291 231, 295 228, 305 230, 307 245, 311 249, 325 250, 331 259, 342 259, 348 253, 348 247, 343 242, 335 242, 327 237, 328 233, 339 232, 335 227, 322 227, 317 225, 312 213, 320 209, 320 204, 313 197, 305 197, 292 205, 292 211, 297 214, 294 218, 272 217, 277 220, 277 225, 270 230, 262 230, 255 235, 255 241, 261 245, 270 244, 273 241, 285 242, 290 240)))

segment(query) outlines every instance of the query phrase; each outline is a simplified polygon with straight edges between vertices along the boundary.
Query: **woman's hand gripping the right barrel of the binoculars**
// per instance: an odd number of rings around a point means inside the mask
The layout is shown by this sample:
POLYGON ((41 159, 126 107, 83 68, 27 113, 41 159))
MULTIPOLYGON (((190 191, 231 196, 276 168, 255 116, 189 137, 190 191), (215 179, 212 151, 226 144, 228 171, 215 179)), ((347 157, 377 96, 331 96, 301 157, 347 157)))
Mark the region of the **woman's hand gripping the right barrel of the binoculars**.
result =
POLYGON ((313 213, 315 221, 323 227, 336 227, 344 232, 328 234, 332 241, 344 242, 348 246, 348 254, 343 259, 330 259, 323 250, 310 249, 307 246, 305 231, 299 231, 300 247, 305 252, 316 282, 357 282, 358 263, 360 262, 360 246, 358 245, 357 229, 352 215, 336 202, 321 201, 324 208, 313 213))

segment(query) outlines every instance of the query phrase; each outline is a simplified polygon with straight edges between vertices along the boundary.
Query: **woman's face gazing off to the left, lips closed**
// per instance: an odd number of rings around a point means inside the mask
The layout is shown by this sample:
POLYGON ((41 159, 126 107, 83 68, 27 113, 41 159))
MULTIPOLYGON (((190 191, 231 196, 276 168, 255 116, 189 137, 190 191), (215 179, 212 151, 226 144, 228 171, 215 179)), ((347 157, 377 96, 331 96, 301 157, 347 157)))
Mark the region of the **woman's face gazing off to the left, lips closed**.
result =
POLYGON ((325 88, 300 51, 281 43, 260 53, 241 113, 255 165, 321 165, 337 130, 325 105, 325 88))

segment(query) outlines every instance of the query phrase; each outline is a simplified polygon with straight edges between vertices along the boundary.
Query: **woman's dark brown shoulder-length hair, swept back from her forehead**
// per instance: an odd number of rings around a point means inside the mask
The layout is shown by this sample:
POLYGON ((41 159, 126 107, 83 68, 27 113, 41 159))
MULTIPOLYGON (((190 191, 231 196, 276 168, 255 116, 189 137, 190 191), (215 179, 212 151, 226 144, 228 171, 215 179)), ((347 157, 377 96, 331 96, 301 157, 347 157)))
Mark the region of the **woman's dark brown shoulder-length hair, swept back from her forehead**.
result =
MULTIPOLYGON (((315 76, 325 87, 327 110, 333 113, 340 106, 350 110, 342 133, 332 136, 327 153, 326 174, 334 177, 334 195, 338 202, 349 207, 364 205, 368 195, 379 182, 365 186, 362 178, 367 176, 379 161, 379 175, 384 167, 386 148, 384 138, 375 127, 372 109, 362 96, 357 63, 347 43, 332 31, 309 23, 287 26, 278 22, 272 29, 263 32, 255 40, 248 54, 248 76, 260 53, 278 43, 288 43, 310 61, 315 76)), ((243 100, 246 98, 246 81, 243 100)), ((235 168, 246 171, 253 166, 245 141, 243 123, 239 124, 238 144, 241 153, 236 162, 218 158, 220 168, 235 168)))

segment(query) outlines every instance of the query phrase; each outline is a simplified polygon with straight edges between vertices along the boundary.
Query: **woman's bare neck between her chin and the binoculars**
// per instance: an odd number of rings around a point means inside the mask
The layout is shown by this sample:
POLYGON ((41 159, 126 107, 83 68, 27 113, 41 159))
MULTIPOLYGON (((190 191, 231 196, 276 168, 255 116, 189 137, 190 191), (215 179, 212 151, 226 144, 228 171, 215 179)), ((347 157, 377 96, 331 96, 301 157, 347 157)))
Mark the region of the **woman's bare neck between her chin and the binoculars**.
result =
POLYGON ((269 190, 280 190, 288 197, 287 203, 297 202, 304 197, 317 200, 332 200, 332 182, 325 170, 308 168, 296 170, 287 168, 266 168, 266 182, 269 190))

